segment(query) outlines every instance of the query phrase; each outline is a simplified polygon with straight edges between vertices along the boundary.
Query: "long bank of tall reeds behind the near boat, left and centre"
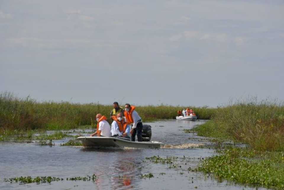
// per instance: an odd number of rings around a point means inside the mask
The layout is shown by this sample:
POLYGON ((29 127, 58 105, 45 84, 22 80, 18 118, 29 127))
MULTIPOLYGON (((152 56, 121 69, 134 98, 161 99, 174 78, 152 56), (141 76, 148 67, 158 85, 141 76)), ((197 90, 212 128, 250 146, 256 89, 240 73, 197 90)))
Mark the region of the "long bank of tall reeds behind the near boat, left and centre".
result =
MULTIPOLYGON (((122 105, 124 106, 124 105, 122 105)), ((199 119, 210 119, 214 108, 195 108, 199 119)), ((82 125, 96 124, 96 114, 110 117, 112 105, 99 103, 79 104, 70 102, 37 102, 34 99, 18 98, 10 92, 0 93, 0 137, 5 132, 19 130, 67 130, 82 125)), ((175 119, 180 106, 137 106, 143 121, 175 119)), ((110 118, 109 118, 109 122, 110 118)))

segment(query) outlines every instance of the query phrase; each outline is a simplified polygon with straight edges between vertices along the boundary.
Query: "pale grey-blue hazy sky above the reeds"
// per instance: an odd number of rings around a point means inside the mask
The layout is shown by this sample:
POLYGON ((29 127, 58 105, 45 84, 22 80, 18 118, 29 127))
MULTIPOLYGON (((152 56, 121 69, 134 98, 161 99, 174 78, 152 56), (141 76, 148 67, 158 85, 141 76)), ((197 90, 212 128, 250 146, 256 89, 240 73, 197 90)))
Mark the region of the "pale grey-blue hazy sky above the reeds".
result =
POLYGON ((283 100, 284 1, 0 0, 0 92, 216 107, 283 100))

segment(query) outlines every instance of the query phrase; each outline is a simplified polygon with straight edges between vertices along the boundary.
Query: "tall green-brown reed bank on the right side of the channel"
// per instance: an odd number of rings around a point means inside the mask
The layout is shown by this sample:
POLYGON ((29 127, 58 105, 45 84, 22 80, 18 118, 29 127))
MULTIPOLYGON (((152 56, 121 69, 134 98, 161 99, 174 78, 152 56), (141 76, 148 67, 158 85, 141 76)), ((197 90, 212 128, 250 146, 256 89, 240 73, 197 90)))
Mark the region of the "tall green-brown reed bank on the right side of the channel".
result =
POLYGON ((194 130, 203 136, 240 141, 259 151, 284 151, 283 103, 239 100, 217 108, 212 118, 194 130))

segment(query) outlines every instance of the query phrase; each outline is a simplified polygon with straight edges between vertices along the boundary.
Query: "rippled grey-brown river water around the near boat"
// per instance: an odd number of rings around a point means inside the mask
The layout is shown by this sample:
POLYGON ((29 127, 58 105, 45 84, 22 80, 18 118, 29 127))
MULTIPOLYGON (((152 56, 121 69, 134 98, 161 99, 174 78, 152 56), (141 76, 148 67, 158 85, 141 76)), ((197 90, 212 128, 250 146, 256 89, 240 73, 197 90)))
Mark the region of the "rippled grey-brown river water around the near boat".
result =
MULTIPOLYGON (((152 140, 164 142, 161 149, 84 149, 58 146, 68 140, 55 141, 55 146, 35 143, 0 143, 0 189, 254 189, 227 182, 219 183, 211 176, 188 171, 213 149, 200 148, 209 142, 183 129, 191 129, 204 120, 163 120, 152 126, 152 140), (145 157, 179 157, 177 168, 155 164, 145 157), (183 161, 183 156, 186 159, 183 161), (185 164, 186 163, 186 164, 185 164), (141 178, 152 173, 153 178, 141 178), (93 181, 60 181, 41 184, 4 182, 17 176, 53 176, 59 178, 97 176, 93 181)), ((145 123, 146 124, 146 123, 145 123)), ((87 134, 86 134, 87 135, 87 134)))

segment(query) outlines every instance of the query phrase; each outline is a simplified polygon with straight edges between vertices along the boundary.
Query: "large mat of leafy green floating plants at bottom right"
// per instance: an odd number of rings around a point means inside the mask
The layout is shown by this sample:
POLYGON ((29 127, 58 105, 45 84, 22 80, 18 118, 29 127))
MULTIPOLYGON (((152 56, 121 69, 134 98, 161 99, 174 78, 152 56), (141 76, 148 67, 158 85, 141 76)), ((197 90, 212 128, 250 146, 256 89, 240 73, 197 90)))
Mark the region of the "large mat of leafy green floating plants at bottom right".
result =
POLYGON ((241 148, 228 148, 219 152, 222 154, 204 159, 198 170, 212 173, 219 181, 225 179, 272 189, 284 188, 283 152, 241 148))

